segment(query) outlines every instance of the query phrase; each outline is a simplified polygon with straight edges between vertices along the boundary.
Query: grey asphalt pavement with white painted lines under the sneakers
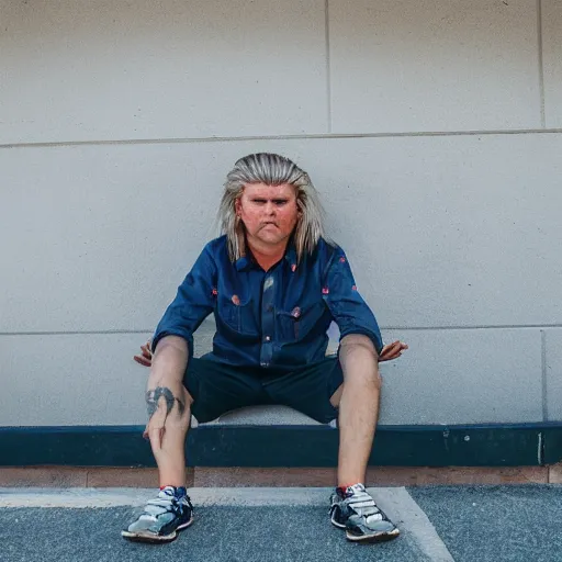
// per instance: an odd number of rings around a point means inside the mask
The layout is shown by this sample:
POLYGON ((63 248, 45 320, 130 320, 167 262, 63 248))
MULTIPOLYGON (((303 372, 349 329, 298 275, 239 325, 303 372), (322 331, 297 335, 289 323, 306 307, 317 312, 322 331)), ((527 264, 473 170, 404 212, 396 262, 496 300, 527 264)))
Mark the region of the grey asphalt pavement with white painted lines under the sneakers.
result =
POLYGON ((168 544, 120 530, 154 491, 0 490, 0 561, 562 562, 557 485, 371 488, 401 537, 356 544, 327 488, 195 488, 195 521, 168 544))

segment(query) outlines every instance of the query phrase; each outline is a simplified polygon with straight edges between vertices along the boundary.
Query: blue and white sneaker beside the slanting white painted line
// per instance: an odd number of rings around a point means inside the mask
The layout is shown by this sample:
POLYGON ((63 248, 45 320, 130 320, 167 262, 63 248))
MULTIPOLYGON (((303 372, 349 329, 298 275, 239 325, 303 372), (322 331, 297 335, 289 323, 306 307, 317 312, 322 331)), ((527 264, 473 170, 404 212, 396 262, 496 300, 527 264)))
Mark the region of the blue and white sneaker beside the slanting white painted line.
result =
POLYGON ((331 524, 346 529, 348 540, 381 542, 400 535, 398 528, 376 506, 362 484, 337 488, 329 509, 331 524))

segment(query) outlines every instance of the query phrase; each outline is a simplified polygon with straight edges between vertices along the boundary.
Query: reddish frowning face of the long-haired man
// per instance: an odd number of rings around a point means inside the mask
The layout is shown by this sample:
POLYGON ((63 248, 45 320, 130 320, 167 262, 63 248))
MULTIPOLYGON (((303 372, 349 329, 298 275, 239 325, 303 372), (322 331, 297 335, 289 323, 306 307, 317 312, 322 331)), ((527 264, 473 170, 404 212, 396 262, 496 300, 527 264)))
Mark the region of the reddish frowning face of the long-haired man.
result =
POLYGON ((248 183, 236 201, 236 214, 246 226, 249 244, 284 245, 299 218, 295 190, 289 183, 248 183))

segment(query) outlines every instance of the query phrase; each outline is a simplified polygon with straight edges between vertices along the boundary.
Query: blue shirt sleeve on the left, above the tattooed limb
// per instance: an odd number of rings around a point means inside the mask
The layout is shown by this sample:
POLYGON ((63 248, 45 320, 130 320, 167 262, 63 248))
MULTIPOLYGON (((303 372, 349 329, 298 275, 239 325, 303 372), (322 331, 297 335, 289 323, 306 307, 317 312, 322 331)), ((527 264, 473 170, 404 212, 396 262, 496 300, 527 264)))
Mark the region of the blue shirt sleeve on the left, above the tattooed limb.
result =
POLYGON ((209 246, 205 246, 156 327, 153 352, 165 336, 180 336, 188 341, 189 357, 193 356, 193 333, 213 312, 216 294, 214 288, 216 263, 209 246))

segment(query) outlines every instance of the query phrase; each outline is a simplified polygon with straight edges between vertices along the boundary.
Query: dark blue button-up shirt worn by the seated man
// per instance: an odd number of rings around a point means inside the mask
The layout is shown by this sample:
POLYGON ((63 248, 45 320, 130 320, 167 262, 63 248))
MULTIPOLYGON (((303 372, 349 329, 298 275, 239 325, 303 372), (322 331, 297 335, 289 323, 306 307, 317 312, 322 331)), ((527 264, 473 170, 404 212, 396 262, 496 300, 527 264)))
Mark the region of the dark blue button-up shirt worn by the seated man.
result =
POLYGON ((210 241, 178 289, 153 338, 180 336, 193 355, 193 333, 214 313, 215 359, 236 366, 291 369, 319 361, 333 321, 340 337, 364 334, 376 351, 376 319, 357 291, 344 250, 321 239, 296 261, 289 244, 284 259, 263 271, 251 257, 228 258, 226 236, 210 241))

